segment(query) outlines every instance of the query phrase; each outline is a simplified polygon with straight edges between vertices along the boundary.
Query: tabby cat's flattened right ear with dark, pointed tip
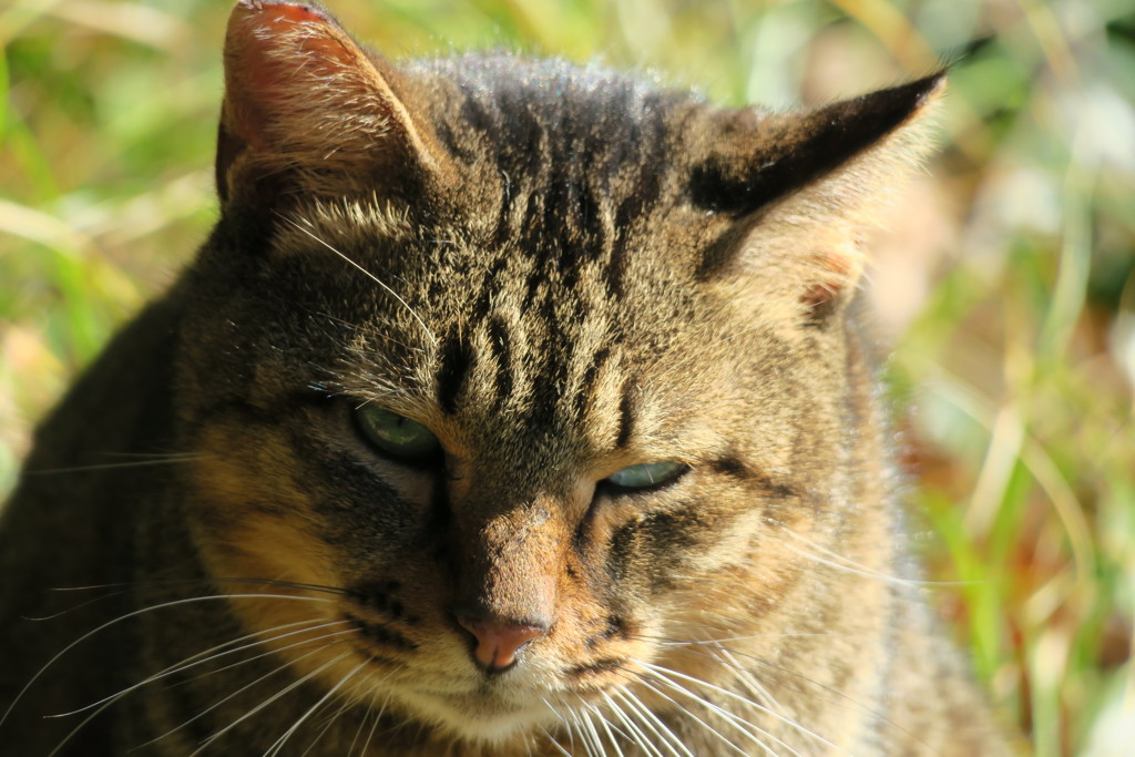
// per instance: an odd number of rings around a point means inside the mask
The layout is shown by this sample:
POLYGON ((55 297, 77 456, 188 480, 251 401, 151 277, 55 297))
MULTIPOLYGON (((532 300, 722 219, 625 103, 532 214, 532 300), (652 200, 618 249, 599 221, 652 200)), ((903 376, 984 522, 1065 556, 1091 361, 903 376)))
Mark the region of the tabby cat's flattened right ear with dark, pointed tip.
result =
POLYGON ((741 272, 804 322, 826 322, 859 280, 864 237, 933 146, 944 85, 940 72, 805 112, 722 112, 728 138, 693 169, 690 192, 735 222, 700 272, 741 272))

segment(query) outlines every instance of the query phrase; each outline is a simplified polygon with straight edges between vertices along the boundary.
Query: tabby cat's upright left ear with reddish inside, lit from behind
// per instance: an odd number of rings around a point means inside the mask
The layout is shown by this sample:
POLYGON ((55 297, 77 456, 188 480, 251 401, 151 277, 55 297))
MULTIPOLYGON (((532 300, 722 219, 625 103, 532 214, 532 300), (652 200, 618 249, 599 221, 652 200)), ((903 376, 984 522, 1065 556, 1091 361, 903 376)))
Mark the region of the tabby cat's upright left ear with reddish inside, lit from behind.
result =
POLYGON ((312 3, 242 0, 225 39, 217 144, 221 202, 400 192, 444 158, 397 72, 312 3))

